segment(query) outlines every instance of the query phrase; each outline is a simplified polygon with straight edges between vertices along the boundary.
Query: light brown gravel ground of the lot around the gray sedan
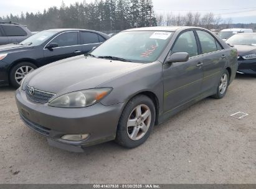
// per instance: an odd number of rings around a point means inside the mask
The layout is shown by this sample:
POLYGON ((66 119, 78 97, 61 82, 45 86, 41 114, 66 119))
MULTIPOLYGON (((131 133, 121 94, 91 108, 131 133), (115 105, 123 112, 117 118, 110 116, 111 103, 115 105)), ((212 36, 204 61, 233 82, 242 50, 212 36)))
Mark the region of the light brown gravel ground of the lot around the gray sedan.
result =
POLYGON ((0 183, 256 183, 255 94, 256 78, 237 76, 225 98, 194 104, 136 149, 107 142, 75 154, 26 127, 14 90, 0 88, 0 183), (238 111, 249 116, 230 117, 238 111))

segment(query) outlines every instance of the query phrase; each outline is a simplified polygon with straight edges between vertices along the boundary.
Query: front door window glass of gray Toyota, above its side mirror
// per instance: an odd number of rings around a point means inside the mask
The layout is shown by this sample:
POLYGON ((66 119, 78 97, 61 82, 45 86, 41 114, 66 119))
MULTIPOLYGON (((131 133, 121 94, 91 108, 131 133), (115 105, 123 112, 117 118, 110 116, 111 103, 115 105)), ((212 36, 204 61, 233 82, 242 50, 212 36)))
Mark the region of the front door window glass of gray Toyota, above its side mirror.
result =
POLYGON ((179 35, 171 50, 172 54, 176 52, 187 52, 189 53, 189 57, 198 55, 196 37, 193 31, 184 32, 179 35))

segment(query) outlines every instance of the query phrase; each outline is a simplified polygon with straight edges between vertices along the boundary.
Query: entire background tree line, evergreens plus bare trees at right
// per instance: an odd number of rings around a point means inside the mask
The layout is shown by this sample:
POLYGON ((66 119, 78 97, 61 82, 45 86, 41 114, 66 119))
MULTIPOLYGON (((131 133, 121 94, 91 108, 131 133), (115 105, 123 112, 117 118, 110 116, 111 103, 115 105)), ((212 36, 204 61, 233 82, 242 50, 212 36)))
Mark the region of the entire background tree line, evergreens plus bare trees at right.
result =
POLYGON ((224 20, 212 12, 200 14, 187 12, 181 14, 154 14, 151 0, 95 0, 87 3, 75 2, 66 6, 50 7, 43 12, 23 12, 21 15, 0 17, 0 22, 18 22, 32 31, 53 28, 80 28, 112 32, 133 27, 155 25, 188 25, 206 29, 225 29, 243 27, 256 29, 256 24, 232 24, 232 19, 224 20))

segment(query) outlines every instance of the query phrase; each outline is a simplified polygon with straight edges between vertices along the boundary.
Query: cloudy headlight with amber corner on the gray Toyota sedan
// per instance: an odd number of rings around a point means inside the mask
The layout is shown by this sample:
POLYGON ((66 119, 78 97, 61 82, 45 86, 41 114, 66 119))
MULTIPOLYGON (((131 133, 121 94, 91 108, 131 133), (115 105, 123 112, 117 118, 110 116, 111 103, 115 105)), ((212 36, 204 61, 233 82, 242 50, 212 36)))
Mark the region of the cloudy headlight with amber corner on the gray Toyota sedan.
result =
POLYGON ((111 88, 76 91, 64 94, 50 101, 49 106, 58 108, 84 108, 98 103, 111 92, 111 88))

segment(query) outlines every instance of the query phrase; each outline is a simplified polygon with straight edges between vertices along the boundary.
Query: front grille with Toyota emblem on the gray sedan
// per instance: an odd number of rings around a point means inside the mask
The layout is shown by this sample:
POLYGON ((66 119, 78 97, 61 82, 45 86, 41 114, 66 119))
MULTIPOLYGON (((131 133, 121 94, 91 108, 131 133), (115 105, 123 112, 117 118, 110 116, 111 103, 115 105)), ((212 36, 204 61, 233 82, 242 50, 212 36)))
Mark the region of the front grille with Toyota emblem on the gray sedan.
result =
POLYGON ((25 91, 27 98, 37 103, 47 103, 49 99, 51 99, 55 95, 54 93, 47 93, 44 91, 36 90, 28 85, 26 85, 25 91))

